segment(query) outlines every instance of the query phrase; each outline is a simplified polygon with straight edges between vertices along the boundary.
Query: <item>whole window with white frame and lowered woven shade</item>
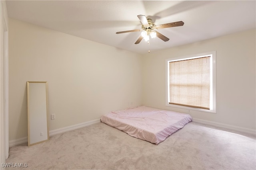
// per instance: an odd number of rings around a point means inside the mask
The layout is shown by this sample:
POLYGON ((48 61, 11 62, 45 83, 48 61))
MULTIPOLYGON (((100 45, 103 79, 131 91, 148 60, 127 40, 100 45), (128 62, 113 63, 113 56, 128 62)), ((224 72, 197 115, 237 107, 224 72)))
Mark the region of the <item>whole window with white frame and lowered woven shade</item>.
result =
POLYGON ((216 113, 216 51, 166 60, 166 106, 216 113))

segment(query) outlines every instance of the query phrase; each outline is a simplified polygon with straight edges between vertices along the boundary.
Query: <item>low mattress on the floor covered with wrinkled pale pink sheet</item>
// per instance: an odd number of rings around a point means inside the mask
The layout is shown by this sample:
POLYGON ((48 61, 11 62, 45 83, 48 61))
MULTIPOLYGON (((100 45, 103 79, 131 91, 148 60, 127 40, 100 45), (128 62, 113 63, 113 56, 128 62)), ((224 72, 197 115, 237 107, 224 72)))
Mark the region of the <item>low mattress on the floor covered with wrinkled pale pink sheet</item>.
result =
POLYGON ((158 144, 192 121, 186 113, 139 106, 112 111, 100 119, 132 137, 158 144))

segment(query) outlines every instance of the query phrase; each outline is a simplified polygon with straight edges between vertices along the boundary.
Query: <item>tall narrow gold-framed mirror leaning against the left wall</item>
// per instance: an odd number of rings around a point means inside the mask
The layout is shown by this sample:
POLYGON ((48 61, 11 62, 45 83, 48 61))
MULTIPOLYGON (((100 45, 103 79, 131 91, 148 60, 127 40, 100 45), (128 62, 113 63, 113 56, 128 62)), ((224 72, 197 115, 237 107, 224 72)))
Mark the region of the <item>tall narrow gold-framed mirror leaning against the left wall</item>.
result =
POLYGON ((27 82, 28 146, 49 140, 47 82, 27 82))

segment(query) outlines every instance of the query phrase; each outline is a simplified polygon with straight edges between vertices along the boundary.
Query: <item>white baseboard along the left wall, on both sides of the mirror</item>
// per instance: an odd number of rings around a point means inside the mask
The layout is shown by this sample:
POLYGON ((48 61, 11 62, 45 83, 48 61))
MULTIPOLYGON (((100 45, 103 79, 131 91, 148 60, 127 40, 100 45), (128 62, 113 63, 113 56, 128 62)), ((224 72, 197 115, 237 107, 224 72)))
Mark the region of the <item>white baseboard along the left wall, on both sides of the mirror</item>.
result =
MULTIPOLYGON (((57 134, 64 133, 64 132, 67 132, 67 131, 72 131, 72 130, 75 130, 75 129, 79 129, 81 127, 86 127, 86 126, 92 125, 94 123, 100 123, 100 119, 95 119, 95 120, 92 120, 92 121, 86 121, 84 123, 79 123, 79 124, 76 124, 76 125, 63 127, 63 128, 60 128, 60 129, 55 129, 55 130, 49 131, 49 136, 57 135, 57 134)), ((20 145, 22 143, 28 143, 28 137, 24 137, 24 138, 9 141, 9 147, 13 147, 15 145, 20 145)))

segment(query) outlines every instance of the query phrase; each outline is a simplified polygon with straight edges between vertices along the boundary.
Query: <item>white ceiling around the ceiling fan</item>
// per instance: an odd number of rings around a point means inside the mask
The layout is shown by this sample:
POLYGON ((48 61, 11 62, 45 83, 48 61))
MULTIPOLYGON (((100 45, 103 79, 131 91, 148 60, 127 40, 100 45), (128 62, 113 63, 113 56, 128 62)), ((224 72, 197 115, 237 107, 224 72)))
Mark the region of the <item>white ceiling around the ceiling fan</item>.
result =
POLYGON ((8 0, 8 16, 135 53, 154 53, 178 45, 256 27, 256 1, 143 1, 143 0, 8 0), (137 15, 156 25, 183 21, 180 27, 158 29, 159 38, 134 44, 141 29, 137 15))

